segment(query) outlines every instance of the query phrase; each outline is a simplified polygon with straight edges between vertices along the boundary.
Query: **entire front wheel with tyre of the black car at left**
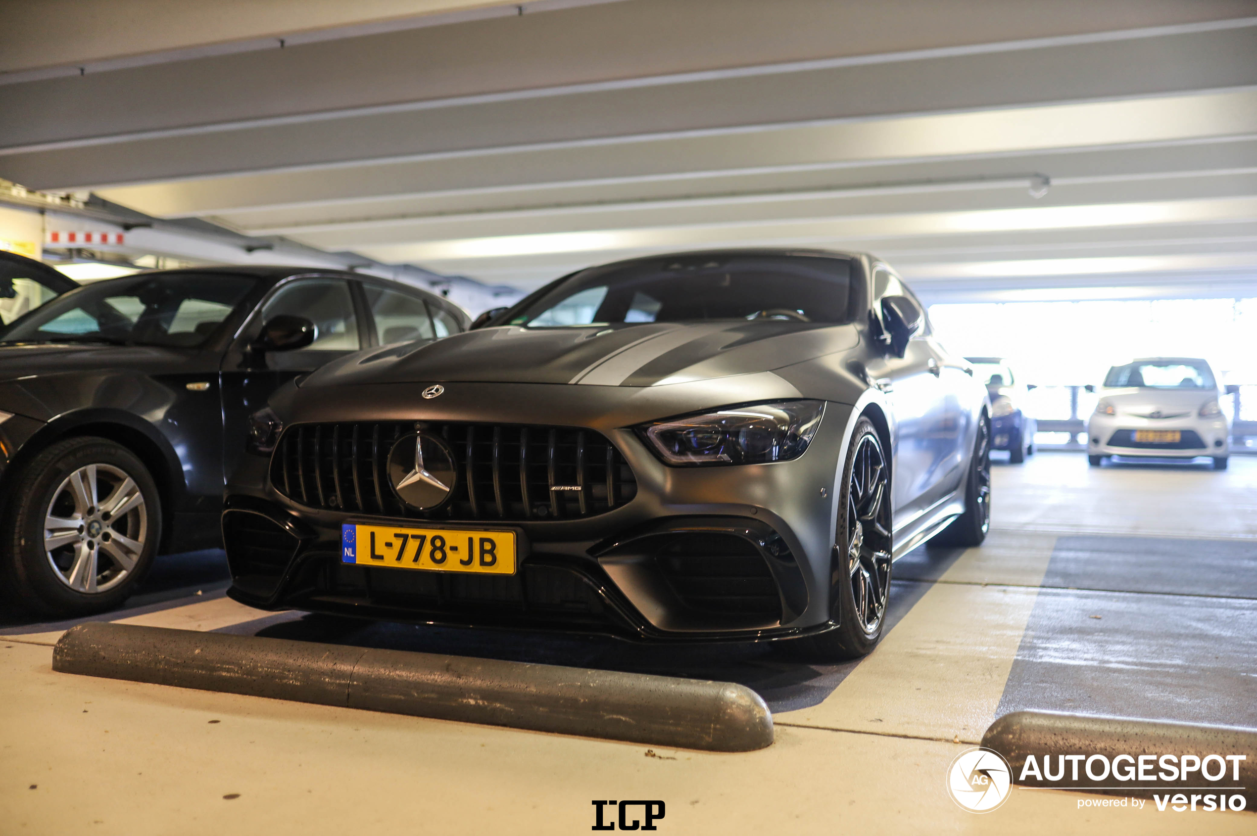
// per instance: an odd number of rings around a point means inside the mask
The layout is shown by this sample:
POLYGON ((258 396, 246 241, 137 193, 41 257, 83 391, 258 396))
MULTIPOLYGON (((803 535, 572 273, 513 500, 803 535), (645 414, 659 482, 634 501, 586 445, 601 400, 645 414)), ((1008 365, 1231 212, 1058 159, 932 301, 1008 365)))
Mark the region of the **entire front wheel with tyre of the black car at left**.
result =
POLYGON ((11 495, 0 573, 19 605, 58 616, 104 612, 152 566, 161 498, 126 448, 99 437, 54 444, 21 468, 11 495), (48 528, 49 519, 63 524, 48 528))

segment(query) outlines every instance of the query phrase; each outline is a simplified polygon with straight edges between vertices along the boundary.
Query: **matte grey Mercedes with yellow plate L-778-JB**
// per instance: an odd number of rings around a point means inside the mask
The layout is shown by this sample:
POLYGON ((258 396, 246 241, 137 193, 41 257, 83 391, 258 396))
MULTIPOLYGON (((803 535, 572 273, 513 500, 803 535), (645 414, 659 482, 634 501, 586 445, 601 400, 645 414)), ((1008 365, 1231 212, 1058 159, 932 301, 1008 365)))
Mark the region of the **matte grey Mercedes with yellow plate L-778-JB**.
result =
POLYGON ((590 268, 279 390, 228 487, 230 595, 859 656, 896 558, 985 537, 988 414, 872 256, 590 268))

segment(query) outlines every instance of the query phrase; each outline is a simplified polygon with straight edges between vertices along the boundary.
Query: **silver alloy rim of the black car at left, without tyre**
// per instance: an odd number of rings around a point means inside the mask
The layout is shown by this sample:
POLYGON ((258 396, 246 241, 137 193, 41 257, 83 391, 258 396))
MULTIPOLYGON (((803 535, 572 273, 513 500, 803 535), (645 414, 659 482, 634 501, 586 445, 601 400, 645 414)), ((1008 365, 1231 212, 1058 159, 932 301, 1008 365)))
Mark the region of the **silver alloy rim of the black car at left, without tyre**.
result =
POLYGON ((111 464, 83 465, 53 492, 44 514, 44 554, 62 583, 85 595, 122 583, 143 554, 145 495, 111 464))

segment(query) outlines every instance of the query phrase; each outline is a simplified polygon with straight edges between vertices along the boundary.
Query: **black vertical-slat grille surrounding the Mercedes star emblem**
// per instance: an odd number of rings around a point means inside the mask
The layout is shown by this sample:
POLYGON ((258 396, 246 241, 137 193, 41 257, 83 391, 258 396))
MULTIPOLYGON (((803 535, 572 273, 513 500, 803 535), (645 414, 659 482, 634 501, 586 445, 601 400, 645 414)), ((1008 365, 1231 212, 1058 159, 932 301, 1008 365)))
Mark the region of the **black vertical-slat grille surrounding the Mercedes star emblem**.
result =
POLYGON ((298 424, 275 446, 270 480, 310 508, 416 519, 573 519, 637 493, 632 469, 601 434, 509 424, 298 424), (456 464, 453 497, 429 512, 405 505, 388 484, 388 451, 416 429, 444 437, 456 464))

